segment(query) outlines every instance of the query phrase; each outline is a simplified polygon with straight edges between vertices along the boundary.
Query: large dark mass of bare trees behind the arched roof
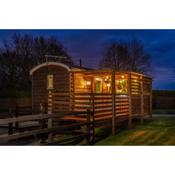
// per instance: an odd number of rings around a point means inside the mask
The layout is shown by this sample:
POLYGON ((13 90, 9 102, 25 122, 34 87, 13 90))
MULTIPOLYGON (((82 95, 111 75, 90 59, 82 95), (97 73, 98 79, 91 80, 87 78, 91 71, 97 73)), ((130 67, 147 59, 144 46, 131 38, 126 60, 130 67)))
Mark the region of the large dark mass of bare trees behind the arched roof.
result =
POLYGON ((72 65, 73 61, 63 45, 55 37, 33 37, 15 33, 11 40, 4 41, 0 48, 0 89, 30 90, 29 71, 36 65, 58 61, 72 65), (60 57, 59 57, 60 56, 60 57), (64 59, 63 59, 64 58, 64 59))

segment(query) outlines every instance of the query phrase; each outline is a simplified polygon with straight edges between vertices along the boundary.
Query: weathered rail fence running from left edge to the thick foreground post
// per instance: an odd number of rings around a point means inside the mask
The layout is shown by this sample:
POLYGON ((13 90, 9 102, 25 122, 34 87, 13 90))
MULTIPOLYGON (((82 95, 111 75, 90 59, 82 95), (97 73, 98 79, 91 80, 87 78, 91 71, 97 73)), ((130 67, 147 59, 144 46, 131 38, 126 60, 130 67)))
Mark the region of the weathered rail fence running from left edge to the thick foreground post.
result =
POLYGON ((0 144, 10 144, 15 141, 15 144, 18 144, 20 139, 28 138, 28 137, 41 137, 42 135, 47 135, 47 142, 43 143, 44 145, 54 145, 54 144, 61 144, 67 141, 75 140, 75 139, 86 139, 87 144, 93 144, 94 142, 94 120, 93 114, 91 111, 86 112, 76 112, 76 113, 69 113, 69 112, 60 112, 58 114, 38 114, 38 115, 27 115, 27 116, 19 116, 19 117, 12 117, 6 119, 0 119, 0 126, 8 125, 8 129, 11 132, 8 134, 1 134, 0 135, 0 144), (54 120, 61 122, 65 121, 64 116, 68 115, 84 115, 87 118, 86 122, 76 122, 70 124, 61 124, 61 125, 54 125, 54 120), (27 130, 23 132, 19 132, 18 128, 14 127, 16 123, 18 126, 20 123, 29 122, 29 121, 38 121, 40 123, 40 127, 32 130, 27 130), (43 124, 44 123, 44 124, 43 124), (76 136, 72 136, 68 139, 63 139, 59 141, 53 141, 53 134, 65 134, 66 131, 72 133, 77 127, 86 126, 86 131, 84 133, 78 134, 76 136))

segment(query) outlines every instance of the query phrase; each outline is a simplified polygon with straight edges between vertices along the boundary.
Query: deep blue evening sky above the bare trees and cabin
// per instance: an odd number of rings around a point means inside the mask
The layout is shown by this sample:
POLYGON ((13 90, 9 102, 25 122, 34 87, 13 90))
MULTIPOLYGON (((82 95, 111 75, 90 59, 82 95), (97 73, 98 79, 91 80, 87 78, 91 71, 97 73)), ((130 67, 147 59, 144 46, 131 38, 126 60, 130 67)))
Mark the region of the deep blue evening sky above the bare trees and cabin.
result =
MULTIPOLYGON (((154 89, 175 89, 175 30, 18 30, 21 34, 56 36, 75 63, 97 67, 104 48, 111 42, 141 40, 151 55, 154 89)), ((14 30, 0 30, 0 42, 14 30)))

